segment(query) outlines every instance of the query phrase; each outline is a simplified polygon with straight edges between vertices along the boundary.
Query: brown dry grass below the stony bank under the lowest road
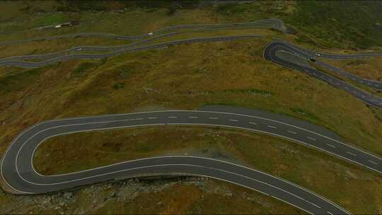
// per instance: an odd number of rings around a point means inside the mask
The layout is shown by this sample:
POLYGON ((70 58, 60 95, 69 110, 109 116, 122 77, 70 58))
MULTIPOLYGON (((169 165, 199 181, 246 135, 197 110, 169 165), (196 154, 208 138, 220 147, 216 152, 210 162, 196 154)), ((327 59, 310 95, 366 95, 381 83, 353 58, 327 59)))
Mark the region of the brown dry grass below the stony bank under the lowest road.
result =
POLYGON ((129 202, 105 204, 92 214, 302 214, 299 209, 225 182, 173 185, 161 192, 139 194, 129 202), (207 191, 211 190, 211 191, 207 191), (224 195, 231 192, 232 197, 224 195), (232 206, 235 207, 232 207, 232 206))

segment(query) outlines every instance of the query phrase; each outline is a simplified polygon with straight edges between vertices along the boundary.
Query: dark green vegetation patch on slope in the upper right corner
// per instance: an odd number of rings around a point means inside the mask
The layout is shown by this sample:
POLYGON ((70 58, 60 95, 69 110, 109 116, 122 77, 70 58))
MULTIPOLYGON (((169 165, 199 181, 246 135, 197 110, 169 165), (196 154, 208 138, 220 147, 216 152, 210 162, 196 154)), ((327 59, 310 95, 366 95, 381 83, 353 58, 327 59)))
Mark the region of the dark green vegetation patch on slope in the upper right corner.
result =
POLYGON ((297 1, 284 21, 328 47, 382 46, 382 1, 297 1))

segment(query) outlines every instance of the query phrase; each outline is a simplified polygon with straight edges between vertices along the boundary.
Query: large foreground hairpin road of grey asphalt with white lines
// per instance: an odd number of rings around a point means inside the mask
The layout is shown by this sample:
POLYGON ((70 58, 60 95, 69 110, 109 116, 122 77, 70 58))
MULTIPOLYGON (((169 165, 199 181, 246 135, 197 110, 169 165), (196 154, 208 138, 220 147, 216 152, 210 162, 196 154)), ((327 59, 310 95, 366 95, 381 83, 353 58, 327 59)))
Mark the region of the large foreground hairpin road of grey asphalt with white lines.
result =
MULTIPOLYGON (((258 190, 311 214, 345 214, 347 211, 301 187, 242 165, 209 158, 168 156, 108 165, 78 173, 40 175, 33 168, 35 149, 52 136, 127 127, 195 125, 245 129, 279 136, 326 151, 382 173, 382 160, 343 143, 340 138, 314 124, 260 110, 207 106, 201 110, 169 110, 122 115, 52 120, 36 124, 14 139, 1 161, 1 175, 14 192, 55 192, 93 182, 141 175, 204 175, 258 190)), ((319 179, 318 179, 319 180, 319 179)))

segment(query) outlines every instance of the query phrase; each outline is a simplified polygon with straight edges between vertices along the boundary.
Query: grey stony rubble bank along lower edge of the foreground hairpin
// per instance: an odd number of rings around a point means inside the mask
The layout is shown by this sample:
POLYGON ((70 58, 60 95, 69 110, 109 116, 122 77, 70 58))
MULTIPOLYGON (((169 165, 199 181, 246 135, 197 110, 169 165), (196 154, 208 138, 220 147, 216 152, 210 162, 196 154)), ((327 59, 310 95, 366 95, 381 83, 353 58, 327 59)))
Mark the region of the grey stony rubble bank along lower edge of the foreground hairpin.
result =
MULTIPOLYGON (((28 214, 30 211, 32 211, 33 214, 42 213, 44 211, 55 211, 56 214, 88 214, 110 203, 110 200, 112 202, 129 202, 139 196, 139 194, 158 193, 175 185, 192 185, 198 187, 204 192, 202 199, 206 194, 221 194, 225 197, 233 197, 233 193, 229 190, 229 187, 217 185, 213 180, 208 180, 207 178, 132 178, 113 183, 105 182, 90 185, 77 190, 58 192, 55 194, 41 194, 36 196, 9 195, 9 197, 13 198, 12 202, 16 202, 16 204, 8 204, 5 207, 0 207, 0 214, 28 214), (214 188, 212 189, 212 187, 214 188)), ((8 194, 1 191, 0 195, 8 194)), ((156 204, 163 206, 161 199, 158 199, 156 204)))

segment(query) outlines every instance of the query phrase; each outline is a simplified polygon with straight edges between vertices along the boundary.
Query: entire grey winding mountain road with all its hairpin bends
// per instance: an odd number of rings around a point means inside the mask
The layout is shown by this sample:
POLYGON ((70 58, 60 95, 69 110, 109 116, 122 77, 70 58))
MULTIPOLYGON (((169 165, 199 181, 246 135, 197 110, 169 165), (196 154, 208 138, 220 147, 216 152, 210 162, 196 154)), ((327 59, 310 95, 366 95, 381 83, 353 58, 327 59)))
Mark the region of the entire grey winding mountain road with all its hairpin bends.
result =
MULTIPOLYGON (((285 31, 282 21, 270 19, 255 23, 229 23, 229 24, 203 24, 203 25, 174 25, 154 31, 154 36, 135 35, 121 36, 103 33, 81 33, 74 35, 57 35, 50 37, 40 37, 26 40, 1 42, 0 45, 11 45, 21 42, 32 42, 37 40, 54 40, 64 37, 110 37, 117 40, 141 40, 129 45, 115 47, 81 46, 73 47, 69 50, 54 52, 50 54, 37 54, 29 56, 8 57, 0 59, 0 66, 23 66, 27 68, 37 68, 61 62, 69 59, 101 59, 116 56, 122 52, 134 52, 140 50, 151 50, 192 42, 216 42, 227 40, 243 40, 261 35, 238 35, 226 37, 203 37, 188 40, 175 40, 162 42, 155 45, 144 45, 160 37, 176 35, 180 32, 170 32, 171 30, 193 29, 225 29, 225 28, 276 28, 285 31), (144 45, 144 46, 140 46, 144 45), (79 50, 111 51, 103 54, 73 54, 79 50), (26 62, 27 59, 41 59, 42 62, 26 62)), ((297 69, 304 73, 330 83, 336 88, 340 88, 354 95, 359 100, 382 108, 382 99, 370 93, 361 91, 358 88, 341 81, 333 76, 318 71, 315 68, 303 66, 290 62, 277 55, 277 52, 289 52, 309 60, 311 58, 326 57, 331 59, 350 59, 357 57, 381 56, 381 53, 364 54, 325 54, 304 50, 287 42, 274 41, 265 47, 264 57, 274 63, 281 64, 288 68, 297 69)), ((382 89, 381 82, 361 79, 358 76, 349 74, 346 71, 337 69, 323 62, 318 64, 332 71, 336 71, 341 76, 345 76, 359 83, 364 83, 376 89, 382 89)), ((118 178, 139 177, 143 175, 199 175, 209 178, 216 178, 235 183, 264 194, 271 195, 284 202, 299 207, 311 214, 349 214, 328 199, 314 194, 308 190, 294 185, 291 182, 276 178, 258 170, 218 161, 212 158, 195 156, 162 156, 154 158, 143 158, 134 161, 115 163, 100 168, 83 170, 76 173, 63 175, 41 175, 33 167, 33 156, 37 147, 46 139, 75 132, 85 132, 101 129, 117 129, 127 127, 147 127, 166 125, 187 125, 203 127, 224 127, 230 129, 243 129, 250 132, 270 134, 283 139, 288 139, 305 146, 310 146, 320 151, 325 151, 333 156, 345 159, 364 168, 382 173, 382 159, 371 153, 357 149, 346 144, 342 139, 332 132, 318 127, 314 124, 297 120, 284 115, 277 115, 260 110, 246 108, 233 108, 228 106, 214 105, 207 106, 200 110, 168 110, 155 112, 137 112, 122 115, 104 115, 98 117, 79 117, 65 120, 51 120, 36 124, 25 130, 8 147, 1 160, 0 170, 3 182, 16 194, 36 194, 45 192, 56 192, 59 190, 88 185, 94 182, 114 180, 118 178)))

